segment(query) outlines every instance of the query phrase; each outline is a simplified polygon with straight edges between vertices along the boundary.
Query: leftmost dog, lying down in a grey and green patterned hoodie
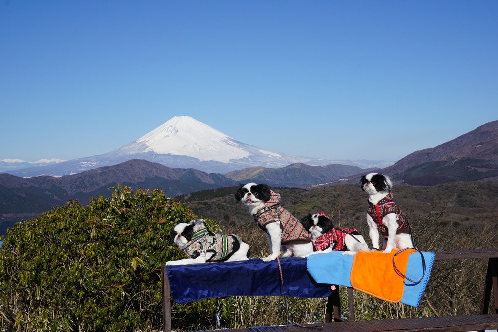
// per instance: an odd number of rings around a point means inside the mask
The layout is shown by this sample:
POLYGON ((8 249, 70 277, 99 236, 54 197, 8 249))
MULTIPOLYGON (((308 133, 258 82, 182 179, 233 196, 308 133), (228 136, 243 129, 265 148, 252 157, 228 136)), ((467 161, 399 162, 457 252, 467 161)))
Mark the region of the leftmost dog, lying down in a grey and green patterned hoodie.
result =
POLYGON ((233 262, 247 260, 249 244, 237 235, 209 235, 203 219, 180 222, 173 229, 173 241, 190 258, 170 260, 166 265, 233 262))

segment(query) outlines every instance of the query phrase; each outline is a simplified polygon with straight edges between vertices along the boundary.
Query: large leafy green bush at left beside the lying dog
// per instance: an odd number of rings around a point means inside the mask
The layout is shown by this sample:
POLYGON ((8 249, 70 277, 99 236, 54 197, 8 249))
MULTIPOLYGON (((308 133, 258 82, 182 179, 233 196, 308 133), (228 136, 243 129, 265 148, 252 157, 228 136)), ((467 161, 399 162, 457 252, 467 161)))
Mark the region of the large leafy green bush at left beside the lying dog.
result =
MULTIPOLYGON (((0 249, 7 331, 151 331, 161 324, 161 265, 183 258, 172 228, 196 216, 159 191, 118 185, 10 227, 0 249)), ((208 228, 216 228, 207 222, 208 228)))

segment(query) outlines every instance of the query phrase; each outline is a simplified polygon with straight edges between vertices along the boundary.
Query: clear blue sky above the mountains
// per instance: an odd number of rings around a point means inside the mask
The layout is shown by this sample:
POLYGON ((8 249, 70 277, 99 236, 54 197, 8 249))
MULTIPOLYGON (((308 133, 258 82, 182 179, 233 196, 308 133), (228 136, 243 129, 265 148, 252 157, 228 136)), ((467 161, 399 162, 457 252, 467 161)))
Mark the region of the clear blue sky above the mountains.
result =
POLYGON ((498 1, 1 0, 0 114, 0 160, 103 154, 189 115, 396 161, 498 119, 498 1))

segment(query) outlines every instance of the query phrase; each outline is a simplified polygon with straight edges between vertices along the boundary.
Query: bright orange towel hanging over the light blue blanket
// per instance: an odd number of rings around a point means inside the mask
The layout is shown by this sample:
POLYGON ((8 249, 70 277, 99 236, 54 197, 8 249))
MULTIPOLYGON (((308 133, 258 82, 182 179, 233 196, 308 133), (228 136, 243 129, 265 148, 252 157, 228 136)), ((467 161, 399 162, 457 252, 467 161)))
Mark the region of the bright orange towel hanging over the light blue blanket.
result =
MULTIPOLYGON (((350 277, 353 288, 384 301, 401 301, 404 292, 404 277, 396 271, 392 263, 392 257, 398 251, 392 250, 388 254, 382 251, 357 253, 353 260, 350 277)), ((406 274, 408 256, 412 252, 415 250, 407 249, 394 258, 397 269, 403 275, 406 274)))

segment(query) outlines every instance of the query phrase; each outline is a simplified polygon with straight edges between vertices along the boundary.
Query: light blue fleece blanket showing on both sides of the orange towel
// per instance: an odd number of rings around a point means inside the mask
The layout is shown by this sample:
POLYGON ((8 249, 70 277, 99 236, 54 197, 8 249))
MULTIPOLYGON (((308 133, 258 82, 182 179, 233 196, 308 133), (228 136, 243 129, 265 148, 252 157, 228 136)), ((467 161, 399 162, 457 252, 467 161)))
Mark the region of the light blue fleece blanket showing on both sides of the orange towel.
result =
MULTIPOLYGON (((420 304, 434 262, 433 252, 422 252, 422 254, 425 259, 425 271, 420 252, 412 253, 408 257, 406 277, 418 280, 423 275, 423 279, 418 283, 405 280, 403 298, 400 302, 412 307, 418 307, 420 304)), ((314 254, 307 258, 307 270, 318 283, 351 287, 350 275, 353 258, 353 256, 343 255, 341 251, 314 254)))

